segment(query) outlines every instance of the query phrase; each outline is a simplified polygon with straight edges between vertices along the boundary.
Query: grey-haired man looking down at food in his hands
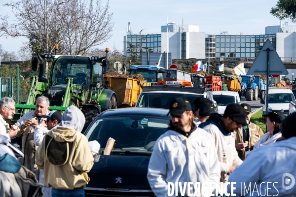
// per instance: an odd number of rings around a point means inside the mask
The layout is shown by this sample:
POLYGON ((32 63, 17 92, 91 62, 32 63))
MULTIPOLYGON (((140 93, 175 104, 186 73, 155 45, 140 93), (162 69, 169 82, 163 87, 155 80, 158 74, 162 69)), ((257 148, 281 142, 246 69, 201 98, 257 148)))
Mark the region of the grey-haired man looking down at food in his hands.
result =
MULTIPOLYGON (((14 125, 18 126, 20 131, 16 134, 16 137, 22 137, 22 152, 24 157, 20 159, 20 163, 34 172, 39 179, 39 169, 35 163, 35 152, 37 146, 34 143, 34 129, 38 126, 38 120, 41 116, 48 115, 49 111, 49 99, 44 96, 40 96, 36 101, 36 109, 24 114, 14 125)), ((44 130, 47 130, 44 127, 44 130)))

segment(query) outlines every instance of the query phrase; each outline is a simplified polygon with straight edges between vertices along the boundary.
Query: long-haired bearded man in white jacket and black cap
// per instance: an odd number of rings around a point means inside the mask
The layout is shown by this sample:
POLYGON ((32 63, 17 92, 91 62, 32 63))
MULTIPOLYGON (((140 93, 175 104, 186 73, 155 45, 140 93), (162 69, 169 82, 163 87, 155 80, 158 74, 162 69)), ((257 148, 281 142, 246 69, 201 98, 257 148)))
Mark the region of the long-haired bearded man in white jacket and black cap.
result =
MULTIPOLYGON (((205 182, 218 183, 220 180, 214 141, 209 133, 193 123, 188 100, 174 99, 168 114, 171 114, 170 128, 155 142, 148 165, 148 182, 157 197, 167 197, 168 192, 174 196, 176 193, 181 196, 193 195, 194 192, 198 194, 200 189, 194 188, 195 183, 202 185, 205 182), (185 188, 184 194, 178 182, 185 188), (188 182, 192 183, 189 192, 188 182), (178 190, 175 193, 176 187, 178 190)), ((206 196, 211 195, 208 193, 206 196)))

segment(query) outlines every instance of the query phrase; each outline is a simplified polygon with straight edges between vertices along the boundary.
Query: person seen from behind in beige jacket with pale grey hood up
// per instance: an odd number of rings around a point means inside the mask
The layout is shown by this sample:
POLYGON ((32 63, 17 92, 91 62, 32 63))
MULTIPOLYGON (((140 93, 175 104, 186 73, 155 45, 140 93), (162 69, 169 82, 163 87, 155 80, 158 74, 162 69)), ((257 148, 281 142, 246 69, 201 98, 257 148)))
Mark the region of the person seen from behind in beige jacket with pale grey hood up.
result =
POLYGON ((85 118, 74 105, 64 112, 60 126, 46 133, 37 149, 36 164, 44 169, 44 182, 52 197, 84 197, 94 158, 81 134, 85 118), (66 153, 66 154, 65 154, 66 153))

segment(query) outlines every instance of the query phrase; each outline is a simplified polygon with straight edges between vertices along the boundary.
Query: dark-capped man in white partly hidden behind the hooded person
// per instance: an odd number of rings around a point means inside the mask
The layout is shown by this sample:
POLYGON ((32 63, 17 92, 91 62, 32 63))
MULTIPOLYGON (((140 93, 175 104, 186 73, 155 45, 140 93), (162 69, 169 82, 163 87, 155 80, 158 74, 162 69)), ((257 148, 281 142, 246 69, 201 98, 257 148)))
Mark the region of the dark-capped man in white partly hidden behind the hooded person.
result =
MULTIPOLYGON (((40 146, 45 134, 52 129, 59 126, 62 120, 62 114, 59 111, 51 111, 48 115, 41 116, 41 120, 38 126, 35 127, 34 143, 36 146, 40 146), (46 129, 47 128, 47 129, 46 129)), ((40 170, 39 183, 43 185, 42 192, 44 197, 51 197, 51 188, 46 187, 44 182, 44 170, 40 170)))

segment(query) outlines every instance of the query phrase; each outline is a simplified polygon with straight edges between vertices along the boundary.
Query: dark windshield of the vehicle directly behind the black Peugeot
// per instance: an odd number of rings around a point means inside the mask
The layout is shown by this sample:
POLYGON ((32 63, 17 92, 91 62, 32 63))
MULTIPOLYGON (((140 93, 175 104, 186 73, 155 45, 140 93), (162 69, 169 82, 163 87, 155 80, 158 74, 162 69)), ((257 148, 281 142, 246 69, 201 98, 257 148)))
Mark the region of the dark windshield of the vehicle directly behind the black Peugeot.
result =
POLYGON ((192 110, 194 111, 194 105, 193 105, 194 100, 198 97, 203 97, 203 95, 174 94, 174 93, 145 93, 142 95, 138 107, 170 109, 171 101, 178 97, 187 99, 191 104, 192 110))

